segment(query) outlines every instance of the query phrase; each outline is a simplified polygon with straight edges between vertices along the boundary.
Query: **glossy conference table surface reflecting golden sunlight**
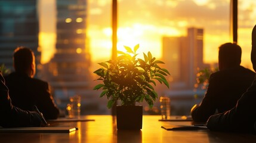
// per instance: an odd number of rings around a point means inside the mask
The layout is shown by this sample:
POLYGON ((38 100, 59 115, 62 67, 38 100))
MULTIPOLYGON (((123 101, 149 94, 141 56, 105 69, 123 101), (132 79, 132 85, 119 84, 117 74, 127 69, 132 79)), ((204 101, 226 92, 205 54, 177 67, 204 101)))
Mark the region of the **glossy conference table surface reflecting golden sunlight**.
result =
POLYGON ((189 121, 159 122, 161 116, 143 116, 143 129, 117 130, 116 117, 83 116, 88 122, 50 122, 51 126, 78 127, 70 133, 0 133, 0 142, 256 142, 256 135, 206 130, 165 130, 162 125, 192 125, 189 121))

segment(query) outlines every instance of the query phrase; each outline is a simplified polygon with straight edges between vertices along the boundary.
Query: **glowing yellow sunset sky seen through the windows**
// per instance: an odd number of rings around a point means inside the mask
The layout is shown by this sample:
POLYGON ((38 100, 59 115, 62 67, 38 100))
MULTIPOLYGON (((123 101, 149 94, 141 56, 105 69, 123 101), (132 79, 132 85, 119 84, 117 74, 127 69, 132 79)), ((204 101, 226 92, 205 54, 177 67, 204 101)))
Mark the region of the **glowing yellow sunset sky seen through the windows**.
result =
MULTIPOLYGON (((231 42, 229 36, 230 0, 119 0, 118 49, 140 43, 139 52, 162 56, 162 36, 186 36, 188 27, 204 29, 206 63, 217 62, 218 46, 231 42)), ((256 24, 256 1, 239 1, 238 44, 242 65, 251 67, 251 30, 256 24)), ((88 39, 92 62, 111 57, 112 0, 88 0, 88 39)), ((55 1, 39 0, 42 63, 55 51, 55 1)))

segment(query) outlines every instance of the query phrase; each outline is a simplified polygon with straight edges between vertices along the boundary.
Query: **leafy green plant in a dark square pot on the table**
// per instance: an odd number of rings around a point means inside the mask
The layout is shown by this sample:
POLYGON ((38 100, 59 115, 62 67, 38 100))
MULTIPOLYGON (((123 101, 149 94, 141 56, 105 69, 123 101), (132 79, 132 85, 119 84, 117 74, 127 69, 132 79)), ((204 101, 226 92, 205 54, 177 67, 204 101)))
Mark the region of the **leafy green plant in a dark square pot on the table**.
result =
POLYGON ((96 80, 102 83, 96 85, 94 90, 103 89, 100 97, 107 97, 108 108, 111 108, 116 101, 121 101, 122 105, 116 107, 118 129, 141 129, 143 108, 136 106, 135 103, 145 100, 152 108, 153 101, 158 98, 152 85, 156 86, 156 81, 158 81, 169 88, 169 83, 165 78, 169 71, 158 66, 164 62, 156 60, 150 52, 143 53, 144 60, 137 58, 139 44, 135 45, 133 50, 129 46, 124 47, 127 52, 118 51, 116 60, 98 63, 102 67, 94 73, 100 76, 96 80), (139 117, 134 117, 135 115, 139 117), (128 121, 122 123, 121 119, 128 121))

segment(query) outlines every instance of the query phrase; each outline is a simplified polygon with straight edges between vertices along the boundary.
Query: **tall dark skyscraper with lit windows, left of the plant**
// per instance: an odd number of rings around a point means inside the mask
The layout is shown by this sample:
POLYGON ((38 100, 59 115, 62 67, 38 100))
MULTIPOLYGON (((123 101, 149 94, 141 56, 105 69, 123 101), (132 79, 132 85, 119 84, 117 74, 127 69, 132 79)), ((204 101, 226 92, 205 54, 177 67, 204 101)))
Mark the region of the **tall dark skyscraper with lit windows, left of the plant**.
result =
POLYGON ((87 1, 56 2, 56 52, 48 65, 48 76, 55 96, 67 98, 82 95, 90 85, 90 54, 86 42, 87 1))

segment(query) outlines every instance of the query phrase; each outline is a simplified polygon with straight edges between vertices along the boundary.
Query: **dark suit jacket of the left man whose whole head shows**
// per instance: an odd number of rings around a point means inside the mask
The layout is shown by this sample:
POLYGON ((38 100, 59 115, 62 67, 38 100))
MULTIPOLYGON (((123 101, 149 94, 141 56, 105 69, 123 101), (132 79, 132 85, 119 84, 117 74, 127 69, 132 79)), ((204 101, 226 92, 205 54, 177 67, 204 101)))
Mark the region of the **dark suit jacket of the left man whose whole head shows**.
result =
POLYGON ((47 82, 30 78, 24 73, 11 73, 5 77, 13 105, 33 111, 36 105, 45 119, 56 119, 59 114, 47 82))

